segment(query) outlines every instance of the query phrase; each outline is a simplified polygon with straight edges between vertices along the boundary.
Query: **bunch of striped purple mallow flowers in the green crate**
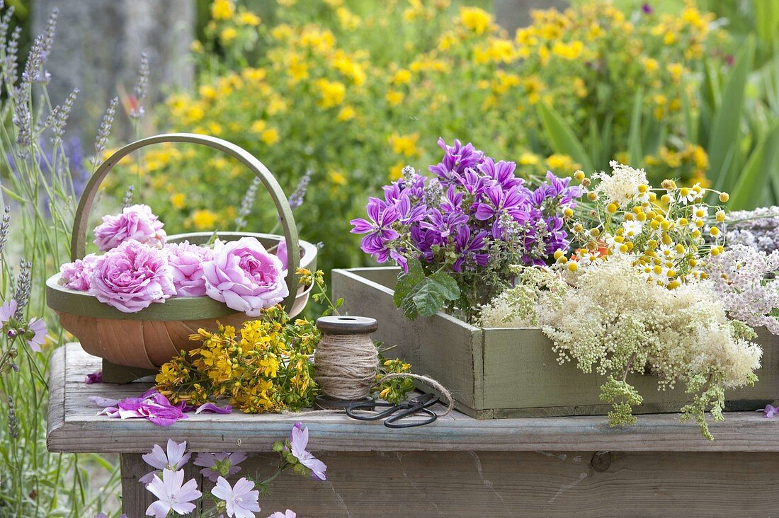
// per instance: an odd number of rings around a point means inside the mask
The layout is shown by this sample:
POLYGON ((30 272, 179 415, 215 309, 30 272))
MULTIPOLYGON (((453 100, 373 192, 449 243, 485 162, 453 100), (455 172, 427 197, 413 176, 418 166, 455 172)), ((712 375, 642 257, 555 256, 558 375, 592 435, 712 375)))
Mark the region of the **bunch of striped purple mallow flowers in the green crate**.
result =
POLYGON ((580 188, 551 172, 530 189, 516 164, 495 161, 471 143, 439 139, 444 157, 429 167, 435 178, 404 169, 404 178, 372 197, 368 217, 351 221, 365 234, 364 252, 379 263, 393 259, 448 266, 454 273, 488 266, 506 272, 512 263, 544 264, 569 244, 562 210, 576 206, 580 188), (497 245, 497 246, 496 246, 497 245))

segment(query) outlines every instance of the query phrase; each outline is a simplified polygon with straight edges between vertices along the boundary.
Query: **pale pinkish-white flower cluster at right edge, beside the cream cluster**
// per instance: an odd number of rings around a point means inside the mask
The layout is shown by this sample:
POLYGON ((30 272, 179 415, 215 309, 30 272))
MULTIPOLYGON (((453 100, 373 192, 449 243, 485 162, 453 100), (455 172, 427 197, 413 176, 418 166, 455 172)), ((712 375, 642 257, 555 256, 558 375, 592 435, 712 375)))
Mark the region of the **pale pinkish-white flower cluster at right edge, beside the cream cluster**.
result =
POLYGON ((731 319, 765 326, 779 334, 779 251, 770 254, 748 245, 734 245, 708 263, 714 291, 731 319))

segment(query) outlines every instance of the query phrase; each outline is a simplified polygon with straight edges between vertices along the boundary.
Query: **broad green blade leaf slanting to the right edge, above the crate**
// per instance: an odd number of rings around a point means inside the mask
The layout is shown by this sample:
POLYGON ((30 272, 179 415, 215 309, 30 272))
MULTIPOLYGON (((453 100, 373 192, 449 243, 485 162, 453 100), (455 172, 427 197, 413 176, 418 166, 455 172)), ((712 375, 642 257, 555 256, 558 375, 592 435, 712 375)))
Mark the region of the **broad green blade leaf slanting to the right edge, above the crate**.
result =
POLYGON ((728 201, 730 210, 750 210, 760 206, 768 189, 767 182, 777 176, 777 160, 779 160, 779 122, 774 122, 770 130, 757 143, 746 165, 738 174, 731 197, 728 201))

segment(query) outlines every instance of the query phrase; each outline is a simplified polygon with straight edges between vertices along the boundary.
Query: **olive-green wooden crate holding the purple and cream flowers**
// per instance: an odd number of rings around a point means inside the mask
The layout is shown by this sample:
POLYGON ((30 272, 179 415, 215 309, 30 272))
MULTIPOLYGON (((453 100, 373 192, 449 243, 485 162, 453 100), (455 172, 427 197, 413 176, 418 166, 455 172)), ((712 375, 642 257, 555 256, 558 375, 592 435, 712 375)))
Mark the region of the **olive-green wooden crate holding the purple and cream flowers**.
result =
MULTIPOLYGON (((344 311, 379 321, 375 340, 397 344, 391 356, 431 375, 456 399, 456 408, 479 419, 607 414, 599 400, 604 378, 559 365, 540 329, 480 329, 444 313, 410 321, 393 304, 397 268, 333 270, 333 297, 344 311)), ((726 393, 726 410, 753 411, 779 396, 776 338, 759 329, 763 367, 754 387, 726 393)), ((638 414, 679 411, 683 389, 660 391, 650 375, 630 375, 644 403, 638 414)))

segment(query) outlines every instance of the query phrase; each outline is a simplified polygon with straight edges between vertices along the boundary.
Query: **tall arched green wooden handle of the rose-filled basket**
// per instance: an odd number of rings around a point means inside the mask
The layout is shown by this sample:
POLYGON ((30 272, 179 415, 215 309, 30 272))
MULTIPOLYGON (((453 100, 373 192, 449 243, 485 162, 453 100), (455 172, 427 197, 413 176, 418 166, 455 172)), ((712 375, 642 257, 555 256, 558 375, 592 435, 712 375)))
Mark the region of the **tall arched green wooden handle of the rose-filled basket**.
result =
POLYGON ((100 164, 100 167, 97 167, 97 171, 95 171, 95 174, 92 175, 92 178, 86 184, 86 188, 84 188, 79 201, 79 208, 76 210, 76 220, 73 221, 73 233, 70 242, 71 260, 83 259, 86 254, 86 233, 88 231, 87 225, 92 204, 95 196, 97 196, 100 184, 108 172, 111 171, 111 168, 118 164, 123 157, 142 147, 158 143, 176 142, 200 144, 227 153, 248 167, 263 182, 266 191, 270 193, 270 197, 273 198, 273 203, 276 205, 281 226, 284 228, 284 238, 287 240, 287 288, 289 288, 289 295, 284 301, 284 308, 289 311, 294 304, 294 299, 298 292, 297 270, 298 266, 300 266, 300 243, 298 242, 298 228, 295 227, 292 209, 287 202, 287 196, 284 195, 284 191, 281 189, 279 182, 276 181, 276 178, 273 177, 273 174, 268 171, 268 168, 262 162, 252 156, 252 153, 240 146, 227 142, 227 140, 217 139, 217 137, 213 136, 197 135, 195 133, 167 133, 150 136, 146 139, 129 143, 112 154, 111 157, 108 157, 100 164))

